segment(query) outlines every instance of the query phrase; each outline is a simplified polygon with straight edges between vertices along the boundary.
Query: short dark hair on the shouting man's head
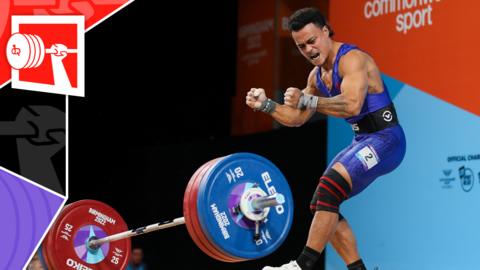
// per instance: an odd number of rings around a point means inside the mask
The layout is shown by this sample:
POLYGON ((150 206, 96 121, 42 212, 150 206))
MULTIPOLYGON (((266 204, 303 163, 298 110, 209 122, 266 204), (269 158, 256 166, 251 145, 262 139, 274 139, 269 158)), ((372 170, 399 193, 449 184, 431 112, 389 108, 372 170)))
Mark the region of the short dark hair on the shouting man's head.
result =
POLYGON ((302 30, 302 28, 309 23, 313 23, 319 28, 326 26, 330 32, 328 35, 329 37, 334 34, 327 18, 320 12, 320 10, 314 7, 302 8, 295 11, 292 16, 290 16, 288 28, 290 29, 290 32, 297 32, 302 30))

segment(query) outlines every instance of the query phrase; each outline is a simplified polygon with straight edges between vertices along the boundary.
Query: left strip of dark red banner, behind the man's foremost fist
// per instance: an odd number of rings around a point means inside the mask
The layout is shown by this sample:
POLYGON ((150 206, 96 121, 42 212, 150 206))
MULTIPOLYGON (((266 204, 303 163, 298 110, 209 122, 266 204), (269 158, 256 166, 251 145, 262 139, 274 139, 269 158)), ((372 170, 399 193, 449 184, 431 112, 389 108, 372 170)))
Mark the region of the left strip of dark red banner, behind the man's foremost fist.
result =
POLYGON ((237 37, 237 89, 232 104, 234 135, 266 131, 273 127, 270 116, 254 113, 245 105, 252 87, 273 95, 275 54, 275 0, 239 1, 237 37))

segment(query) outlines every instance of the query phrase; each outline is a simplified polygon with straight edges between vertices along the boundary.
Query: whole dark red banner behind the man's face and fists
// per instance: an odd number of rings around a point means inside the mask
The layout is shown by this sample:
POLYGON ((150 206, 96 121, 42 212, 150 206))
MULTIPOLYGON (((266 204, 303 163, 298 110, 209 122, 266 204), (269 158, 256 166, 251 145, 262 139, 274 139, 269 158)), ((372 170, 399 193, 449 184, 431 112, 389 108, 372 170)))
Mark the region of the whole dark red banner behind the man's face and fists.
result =
POLYGON ((306 86, 313 66, 300 54, 291 38, 288 18, 295 10, 309 6, 324 13, 328 11, 328 1, 321 0, 239 1, 233 135, 275 127, 270 116, 254 113, 245 105, 250 88, 264 88, 267 97, 283 103, 283 93, 288 87, 303 89, 306 86))

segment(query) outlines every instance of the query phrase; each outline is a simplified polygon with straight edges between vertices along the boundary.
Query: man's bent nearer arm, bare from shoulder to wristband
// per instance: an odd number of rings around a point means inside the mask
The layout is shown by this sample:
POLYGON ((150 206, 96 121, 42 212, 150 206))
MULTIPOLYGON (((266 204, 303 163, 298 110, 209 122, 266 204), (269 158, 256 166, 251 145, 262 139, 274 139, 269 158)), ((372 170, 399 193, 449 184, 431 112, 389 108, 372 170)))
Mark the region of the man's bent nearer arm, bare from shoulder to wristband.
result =
POLYGON ((366 61, 365 56, 358 51, 352 51, 342 58, 339 67, 343 74, 341 94, 328 98, 320 97, 317 112, 341 118, 360 113, 368 87, 366 61))

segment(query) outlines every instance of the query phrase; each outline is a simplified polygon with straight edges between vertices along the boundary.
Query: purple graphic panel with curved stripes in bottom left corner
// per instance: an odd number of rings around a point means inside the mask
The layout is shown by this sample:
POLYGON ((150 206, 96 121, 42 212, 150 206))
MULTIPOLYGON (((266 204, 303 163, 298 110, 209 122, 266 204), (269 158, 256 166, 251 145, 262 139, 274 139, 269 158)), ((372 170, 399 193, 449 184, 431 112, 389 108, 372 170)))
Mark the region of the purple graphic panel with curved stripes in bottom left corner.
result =
POLYGON ((0 269, 22 269, 64 198, 0 168, 0 269))

